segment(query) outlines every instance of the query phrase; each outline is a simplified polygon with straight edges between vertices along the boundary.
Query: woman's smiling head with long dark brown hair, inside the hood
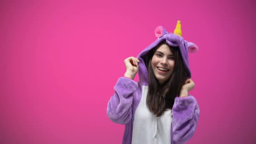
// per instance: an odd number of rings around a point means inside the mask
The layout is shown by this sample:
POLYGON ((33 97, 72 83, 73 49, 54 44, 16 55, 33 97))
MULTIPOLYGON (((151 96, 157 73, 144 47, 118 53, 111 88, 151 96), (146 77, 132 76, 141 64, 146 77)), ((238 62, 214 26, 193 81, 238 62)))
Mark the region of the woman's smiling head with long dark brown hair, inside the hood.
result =
POLYGON ((184 66, 179 47, 167 45, 166 41, 151 49, 147 62, 149 75, 149 90, 147 96, 148 108, 157 116, 172 108, 176 95, 180 94, 186 79, 190 78, 184 66))

